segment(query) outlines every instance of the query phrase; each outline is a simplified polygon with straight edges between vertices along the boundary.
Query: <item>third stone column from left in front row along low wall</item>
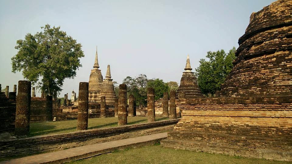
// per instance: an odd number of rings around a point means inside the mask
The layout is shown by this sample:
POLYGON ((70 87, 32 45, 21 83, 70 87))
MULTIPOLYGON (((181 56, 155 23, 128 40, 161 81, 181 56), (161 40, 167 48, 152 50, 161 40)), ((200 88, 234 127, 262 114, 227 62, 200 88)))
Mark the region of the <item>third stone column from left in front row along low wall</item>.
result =
POLYGON ((119 86, 118 125, 127 125, 127 85, 119 86))

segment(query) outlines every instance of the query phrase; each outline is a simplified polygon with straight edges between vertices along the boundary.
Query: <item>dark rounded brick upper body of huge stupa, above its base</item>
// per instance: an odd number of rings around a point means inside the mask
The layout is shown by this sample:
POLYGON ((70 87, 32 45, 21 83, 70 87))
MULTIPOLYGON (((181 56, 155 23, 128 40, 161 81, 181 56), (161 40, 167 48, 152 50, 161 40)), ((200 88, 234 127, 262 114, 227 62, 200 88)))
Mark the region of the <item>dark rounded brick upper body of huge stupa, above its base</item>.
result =
POLYGON ((280 0, 250 16, 233 69, 219 96, 291 95, 292 1, 280 0))

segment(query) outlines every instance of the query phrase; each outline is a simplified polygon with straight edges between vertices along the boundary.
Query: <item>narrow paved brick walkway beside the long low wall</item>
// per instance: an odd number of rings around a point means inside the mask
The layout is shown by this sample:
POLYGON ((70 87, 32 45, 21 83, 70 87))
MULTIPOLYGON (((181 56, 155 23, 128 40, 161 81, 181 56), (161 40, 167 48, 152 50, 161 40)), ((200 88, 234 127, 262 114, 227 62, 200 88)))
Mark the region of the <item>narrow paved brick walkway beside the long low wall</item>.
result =
POLYGON ((115 149, 124 149, 127 147, 136 147, 154 144, 157 141, 167 138, 167 132, 144 135, 141 137, 127 138, 116 141, 103 142, 92 145, 79 146, 71 149, 48 152, 38 155, 27 156, 8 161, 2 161, 0 164, 18 163, 64 163, 76 159, 89 158, 95 155, 112 152, 115 149))

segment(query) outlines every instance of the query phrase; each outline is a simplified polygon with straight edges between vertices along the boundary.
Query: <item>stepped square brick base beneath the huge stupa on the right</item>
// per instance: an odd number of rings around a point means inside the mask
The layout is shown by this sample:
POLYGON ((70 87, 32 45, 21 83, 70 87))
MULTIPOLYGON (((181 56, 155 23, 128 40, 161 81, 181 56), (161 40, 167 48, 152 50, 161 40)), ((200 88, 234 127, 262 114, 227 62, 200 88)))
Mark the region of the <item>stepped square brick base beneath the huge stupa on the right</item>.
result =
POLYGON ((165 147, 292 160, 292 97, 181 100, 182 119, 165 147))

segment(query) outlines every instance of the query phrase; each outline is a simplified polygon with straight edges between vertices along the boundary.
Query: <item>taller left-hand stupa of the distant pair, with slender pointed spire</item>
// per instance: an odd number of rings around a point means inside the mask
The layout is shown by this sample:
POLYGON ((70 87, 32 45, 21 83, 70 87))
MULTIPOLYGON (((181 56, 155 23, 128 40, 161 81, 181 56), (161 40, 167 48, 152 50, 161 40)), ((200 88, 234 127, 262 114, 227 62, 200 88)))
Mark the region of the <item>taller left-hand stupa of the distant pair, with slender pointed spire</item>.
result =
POLYGON ((101 90, 101 86, 103 84, 103 75, 101 71, 98 69, 98 59, 97 59, 97 47, 93 69, 91 70, 89 77, 89 102, 94 102, 98 100, 98 95, 101 90))

